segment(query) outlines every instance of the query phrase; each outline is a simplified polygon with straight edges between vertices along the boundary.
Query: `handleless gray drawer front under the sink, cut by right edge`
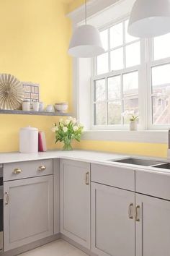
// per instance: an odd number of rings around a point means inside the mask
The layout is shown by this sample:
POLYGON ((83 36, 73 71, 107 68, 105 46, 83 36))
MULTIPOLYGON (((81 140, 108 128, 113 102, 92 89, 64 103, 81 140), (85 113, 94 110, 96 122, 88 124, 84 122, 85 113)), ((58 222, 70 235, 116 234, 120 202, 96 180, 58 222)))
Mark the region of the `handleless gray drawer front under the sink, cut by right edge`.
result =
POLYGON ((136 171, 136 192, 170 200, 170 176, 136 171))

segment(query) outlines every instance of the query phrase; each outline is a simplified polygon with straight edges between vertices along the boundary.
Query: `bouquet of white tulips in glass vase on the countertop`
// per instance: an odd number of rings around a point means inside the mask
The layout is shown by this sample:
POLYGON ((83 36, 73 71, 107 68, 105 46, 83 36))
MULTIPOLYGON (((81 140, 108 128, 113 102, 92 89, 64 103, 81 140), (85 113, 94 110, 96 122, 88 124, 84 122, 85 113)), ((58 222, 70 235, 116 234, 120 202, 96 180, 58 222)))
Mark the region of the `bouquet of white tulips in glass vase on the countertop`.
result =
POLYGON ((84 127, 78 121, 69 116, 68 119, 60 119, 58 125, 55 123, 52 132, 55 133, 55 143, 63 142, 63 150, 73 150, 72 140, 80 142, 84 127))

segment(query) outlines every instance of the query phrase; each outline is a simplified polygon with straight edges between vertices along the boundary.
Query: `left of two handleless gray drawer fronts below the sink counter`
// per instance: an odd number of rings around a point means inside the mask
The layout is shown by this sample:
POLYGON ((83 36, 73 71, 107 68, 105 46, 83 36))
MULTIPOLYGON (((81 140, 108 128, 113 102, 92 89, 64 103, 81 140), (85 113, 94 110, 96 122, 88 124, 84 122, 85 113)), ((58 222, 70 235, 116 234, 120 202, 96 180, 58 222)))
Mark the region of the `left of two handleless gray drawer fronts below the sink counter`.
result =
POLYGON ((128 168, 91 164, 91 181, 135 191, 135 171, 128 168))

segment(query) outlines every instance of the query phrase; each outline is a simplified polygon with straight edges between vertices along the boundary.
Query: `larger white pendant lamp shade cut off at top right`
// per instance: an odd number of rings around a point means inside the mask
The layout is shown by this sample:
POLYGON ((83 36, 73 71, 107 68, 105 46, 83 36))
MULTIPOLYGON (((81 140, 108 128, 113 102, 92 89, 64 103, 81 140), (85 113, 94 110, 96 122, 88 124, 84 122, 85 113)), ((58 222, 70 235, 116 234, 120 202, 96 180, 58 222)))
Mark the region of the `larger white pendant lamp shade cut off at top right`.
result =
POLYGON ((133 5, 128 33, 151 38, 170 32, 170 0, 137 0, 133 5))

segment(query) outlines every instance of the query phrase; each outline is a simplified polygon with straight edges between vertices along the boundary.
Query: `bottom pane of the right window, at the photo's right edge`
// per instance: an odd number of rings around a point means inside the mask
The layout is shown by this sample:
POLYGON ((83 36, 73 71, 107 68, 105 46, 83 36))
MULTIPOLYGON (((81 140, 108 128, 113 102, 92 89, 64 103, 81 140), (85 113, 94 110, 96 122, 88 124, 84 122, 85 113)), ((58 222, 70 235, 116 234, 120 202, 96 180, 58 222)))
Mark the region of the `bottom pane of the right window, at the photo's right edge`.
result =
POLYGON ((169 95, 152 98, 153 124, 170 124, 169 95))

